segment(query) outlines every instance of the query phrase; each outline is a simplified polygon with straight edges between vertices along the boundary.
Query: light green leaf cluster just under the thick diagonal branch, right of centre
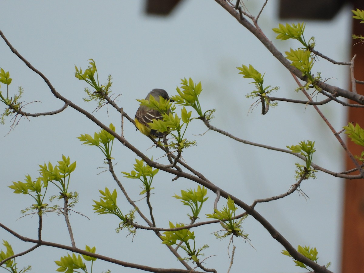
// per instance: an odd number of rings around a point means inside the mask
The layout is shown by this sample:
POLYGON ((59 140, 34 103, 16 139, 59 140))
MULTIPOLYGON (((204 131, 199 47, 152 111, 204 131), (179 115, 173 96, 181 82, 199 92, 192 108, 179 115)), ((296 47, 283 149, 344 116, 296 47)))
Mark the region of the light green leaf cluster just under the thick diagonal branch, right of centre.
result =
POLYGON ((238 208, 235 206, 234 200, 227 197, 227 206, 224 206, 221 210, 214 209, 213 214, 206 214, 207 218, 214 218, 220 220, 220 224, 223 227, 222 235, 219 235, 219 232, 215 232, 215 236, 217 238, 226 238, 227 236, 233 234, 237 237, 243 237, 244 239, 248 239, 247 233, 244 233, 242 229, 242 222, 248 214, 245 214, 243 217, 239 219, 235 218, 235 213, 238 208))

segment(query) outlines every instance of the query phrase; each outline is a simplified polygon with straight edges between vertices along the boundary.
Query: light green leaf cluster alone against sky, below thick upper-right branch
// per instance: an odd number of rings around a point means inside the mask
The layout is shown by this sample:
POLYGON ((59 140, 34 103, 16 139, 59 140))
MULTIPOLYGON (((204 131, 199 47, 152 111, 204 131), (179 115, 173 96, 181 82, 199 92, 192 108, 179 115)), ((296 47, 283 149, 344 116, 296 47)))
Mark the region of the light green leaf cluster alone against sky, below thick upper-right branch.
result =
POLYGON ((246 95, 247 98, 256 98, 259 97, 261 99, 264 99, 265 103, 269 104, 269 106, 277 106, 277 102, 270 102, 270 100, 266 97, 266 95, 272 93, 273 91, 277 91, 279 89, 278 86, 272 87, 268 85, 266 87, 263 86, 264 83, 264 75, 262 75, 258 70, 256 70, 251 64, 249 64, 249 67, 242 64, 241 67, 237 67, 238 70, 240 70, 239 74, 244 75, 243 78, 247 79, 253 79, 257 90, 254 90, 253 92, 250 92, 246 95))

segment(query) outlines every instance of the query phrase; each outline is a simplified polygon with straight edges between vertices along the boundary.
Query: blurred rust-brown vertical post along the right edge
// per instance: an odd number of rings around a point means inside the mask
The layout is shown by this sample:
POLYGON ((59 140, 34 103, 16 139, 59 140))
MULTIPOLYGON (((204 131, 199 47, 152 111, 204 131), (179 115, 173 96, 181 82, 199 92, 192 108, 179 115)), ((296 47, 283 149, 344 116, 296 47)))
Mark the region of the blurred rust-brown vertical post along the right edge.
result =
MULTIPOLYGON (((362 1, 356 1, 353 7, 364 9, 362 1), (361 2, 361 3, 359 3, 361 2)), ((352 33, 364 36, 364 24, 360 20, 353 19, 352 33)), ((352 54, 355 58, 355 78, 364 80, 364 45, 353 41, 352 54)), ((364 95, 364 86, 357 84, 357 92, 364 95)), ((359 123, 364 127, 364 108, 349 108, 348 122, 359 123)), ((349 150, 354 155, 360 155, 363 147, 347 141, 349 150)), ((347 169, 354 168, 353 163, 347 157, 347 169)), ((355 174, 357 174, 356 172, 355 174)), ((335 201, 333 201, 335 202, 335 201)), ((364 272, 364 179, 347 180, 344 188, 343 210, 343 246, 342 246, 342 273, 364 272)))

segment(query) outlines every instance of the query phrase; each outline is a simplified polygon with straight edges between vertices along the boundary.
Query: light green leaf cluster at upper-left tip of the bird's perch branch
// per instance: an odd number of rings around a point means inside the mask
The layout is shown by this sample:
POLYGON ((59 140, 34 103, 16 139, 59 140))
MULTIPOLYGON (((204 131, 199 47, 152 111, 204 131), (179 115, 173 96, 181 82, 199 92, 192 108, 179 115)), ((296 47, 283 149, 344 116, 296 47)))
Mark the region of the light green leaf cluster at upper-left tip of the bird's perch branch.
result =
POLYGON ((103 94, 108 95, 111 92, 110 87, 112 85, 111 82, 112 77, 111 75, 108 75, 107 82, 104 85, 100 86, 96 63, 93 59, 89 59, 89 61, 91 61, 89 63, 90 66, 88 66, 85 72, 83 73, 81 67, 77 68, 77 66, 75 66, 75 77, 79 80, 84 80, 85 82, 90 84, 90 86, 92 86, 92 90, 89 90, 87 87, 85 87, 84 91, 86 92, 87 97, 84 98, 83 100, 85 102, 96 100, 98 102, 98 106, 101 107, 102 104, 104 103, 103 94), (96 78, 95 78, 95 73, 96 73, 96 78))

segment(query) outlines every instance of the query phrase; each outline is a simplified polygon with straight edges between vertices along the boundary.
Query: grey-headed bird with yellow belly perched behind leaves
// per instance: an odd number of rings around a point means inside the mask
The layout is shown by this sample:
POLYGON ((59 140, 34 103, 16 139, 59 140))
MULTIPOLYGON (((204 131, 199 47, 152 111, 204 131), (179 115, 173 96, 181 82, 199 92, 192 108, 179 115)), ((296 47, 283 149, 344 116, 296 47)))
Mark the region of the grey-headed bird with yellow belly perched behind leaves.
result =
MULTIPOLYGON (((170 100, 174 102, 174 100, 170 99, 168 93, 164 89, 155 88, 148 93, 146 96, 146 100, 149 101, 150 96, 153 96, 157 101, 159 101, 159 96, 163 99, 170 100)), ((169 112, 169 110, 168 110, 169 112)), ((157 130, 153 130, 149 126, 149 122, 153 122, 153 119, 162 119, 162 114, 155 109, 151 109, 148 106, 141 105, 139 106, 137 112, 135 113, 135 126, 139 129, 142 134, 146 136, 151 136, 153 138, 162 138, 163 132, 158 132, 157 130)))

